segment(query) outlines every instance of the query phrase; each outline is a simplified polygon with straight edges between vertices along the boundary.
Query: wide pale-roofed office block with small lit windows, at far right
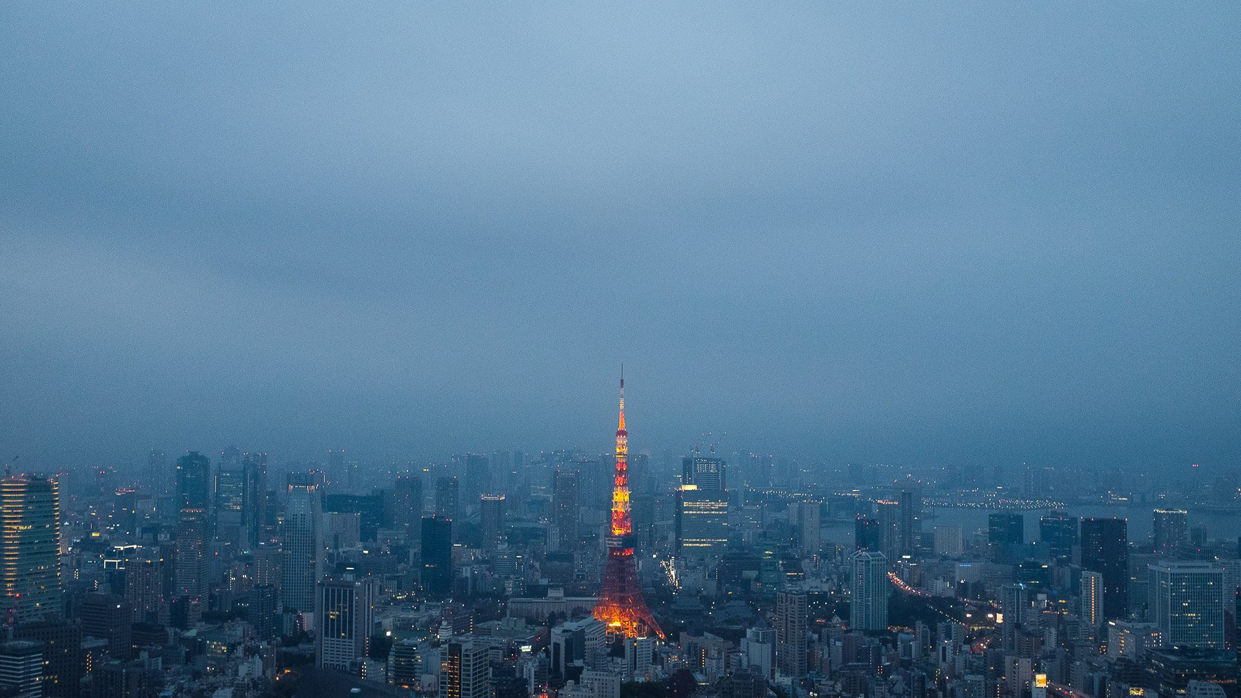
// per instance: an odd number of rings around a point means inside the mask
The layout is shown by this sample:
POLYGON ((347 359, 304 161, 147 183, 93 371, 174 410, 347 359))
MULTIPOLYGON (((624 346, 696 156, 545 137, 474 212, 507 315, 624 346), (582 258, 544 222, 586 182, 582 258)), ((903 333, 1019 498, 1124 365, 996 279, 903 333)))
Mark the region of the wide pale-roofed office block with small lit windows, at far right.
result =
POLYGON ((1224 570, 1206 562, 1147 567, 1147 609, 1164 647, 1224 648, 1224 570))

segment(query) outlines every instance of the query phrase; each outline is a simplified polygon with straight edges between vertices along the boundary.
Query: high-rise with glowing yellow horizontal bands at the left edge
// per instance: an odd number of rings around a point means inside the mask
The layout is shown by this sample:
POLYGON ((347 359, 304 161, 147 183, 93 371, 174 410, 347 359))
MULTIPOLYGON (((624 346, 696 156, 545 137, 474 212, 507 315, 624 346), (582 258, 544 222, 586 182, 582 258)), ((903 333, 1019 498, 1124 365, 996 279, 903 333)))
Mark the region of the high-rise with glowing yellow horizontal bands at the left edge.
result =
POLYGON ((0 480, 0 589, 19 622, 63 614, 61 491, 55 477, 0 480))

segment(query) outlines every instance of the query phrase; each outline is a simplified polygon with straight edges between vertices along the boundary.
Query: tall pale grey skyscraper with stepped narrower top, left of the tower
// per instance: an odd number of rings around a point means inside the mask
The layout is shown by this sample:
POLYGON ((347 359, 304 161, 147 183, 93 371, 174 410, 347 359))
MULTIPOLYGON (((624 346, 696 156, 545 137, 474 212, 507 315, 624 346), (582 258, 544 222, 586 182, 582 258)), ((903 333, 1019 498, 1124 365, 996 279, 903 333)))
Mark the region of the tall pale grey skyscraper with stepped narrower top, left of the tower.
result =
POLYGON ((285 610, 314 612, 315 583, 323 578, 323 498, 308 472, 290 472, 280 527, 280 595, 285 610))

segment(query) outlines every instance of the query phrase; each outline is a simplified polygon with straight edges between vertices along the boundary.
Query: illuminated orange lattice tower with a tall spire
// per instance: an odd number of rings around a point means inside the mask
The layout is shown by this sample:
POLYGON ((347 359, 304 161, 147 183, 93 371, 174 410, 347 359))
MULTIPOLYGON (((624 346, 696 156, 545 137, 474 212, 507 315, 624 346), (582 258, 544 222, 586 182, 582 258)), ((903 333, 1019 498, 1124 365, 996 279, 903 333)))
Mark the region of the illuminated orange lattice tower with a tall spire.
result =
POLYGON ((620 424, 617 428, 617 470, 612 484, 612 534, 608 559, 603 568, 603 586, 594 604, 594 617, 608 632, 625 637, 658 635, 664 631, 647 607, 638 586, 638 568, 633 559, 633 521, 629 519, 629 433, 624 429, 624 371, 620 372, 620 424))

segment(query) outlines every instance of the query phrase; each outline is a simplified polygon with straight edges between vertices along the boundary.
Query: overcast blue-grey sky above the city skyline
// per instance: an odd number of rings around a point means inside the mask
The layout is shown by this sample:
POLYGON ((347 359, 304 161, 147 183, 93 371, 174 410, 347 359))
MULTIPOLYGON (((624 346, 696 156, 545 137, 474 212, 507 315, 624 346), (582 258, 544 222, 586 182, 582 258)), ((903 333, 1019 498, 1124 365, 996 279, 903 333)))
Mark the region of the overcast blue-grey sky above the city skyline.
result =
POLYGON ((339 5, 0 9, 0 448, 1237 465, 1241 5, 339 5))

